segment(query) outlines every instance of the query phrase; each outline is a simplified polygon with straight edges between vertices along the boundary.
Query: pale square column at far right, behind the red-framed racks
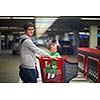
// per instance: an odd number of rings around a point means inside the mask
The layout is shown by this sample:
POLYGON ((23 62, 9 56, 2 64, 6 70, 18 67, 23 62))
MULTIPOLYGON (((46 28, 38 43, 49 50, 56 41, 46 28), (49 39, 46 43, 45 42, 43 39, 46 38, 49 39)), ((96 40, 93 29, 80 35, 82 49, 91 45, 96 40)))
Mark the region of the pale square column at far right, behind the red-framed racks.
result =
POLYGON ((95 48, 97 46, 97 26, 90 26, 90 39, 89 39, 89 47, 95 48))

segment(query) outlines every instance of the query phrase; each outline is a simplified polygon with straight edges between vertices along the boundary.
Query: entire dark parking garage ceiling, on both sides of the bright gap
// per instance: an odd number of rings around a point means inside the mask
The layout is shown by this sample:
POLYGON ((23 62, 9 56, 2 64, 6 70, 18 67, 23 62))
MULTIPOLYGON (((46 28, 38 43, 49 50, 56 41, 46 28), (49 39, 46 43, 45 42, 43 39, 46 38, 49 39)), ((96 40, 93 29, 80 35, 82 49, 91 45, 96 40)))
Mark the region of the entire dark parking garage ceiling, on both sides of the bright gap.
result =
POLYGON ((0 17, 0 32, 11 33, 23 31, 27 21, 35 22, 35 18, 54 18, 57 20, 48 27, 46 34, 64 33, 70 31, 88 32, 91 25, 100 28, 100 16, 32 16, 32 17, 0 17))

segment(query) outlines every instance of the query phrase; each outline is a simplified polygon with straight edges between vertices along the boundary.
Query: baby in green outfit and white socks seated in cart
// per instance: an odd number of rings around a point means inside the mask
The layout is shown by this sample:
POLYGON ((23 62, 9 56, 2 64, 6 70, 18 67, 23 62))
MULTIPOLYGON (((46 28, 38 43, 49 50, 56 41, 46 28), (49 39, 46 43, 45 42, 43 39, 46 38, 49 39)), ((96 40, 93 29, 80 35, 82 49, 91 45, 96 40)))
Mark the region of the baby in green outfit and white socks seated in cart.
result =
MULTIPOLYGON (((60 54, 57 52, 57 44, 53 43, 50 45, 50 55, 54 58, 56 57, 61 57, 60 54)), ((46 67, 46 73, 47 73, 47 78, 54 78, 56 75, 56 69, 57 69, 57 62, 56 61, 52 61, 52 74, 50 74, 50 64, 47 65, 46 67)))

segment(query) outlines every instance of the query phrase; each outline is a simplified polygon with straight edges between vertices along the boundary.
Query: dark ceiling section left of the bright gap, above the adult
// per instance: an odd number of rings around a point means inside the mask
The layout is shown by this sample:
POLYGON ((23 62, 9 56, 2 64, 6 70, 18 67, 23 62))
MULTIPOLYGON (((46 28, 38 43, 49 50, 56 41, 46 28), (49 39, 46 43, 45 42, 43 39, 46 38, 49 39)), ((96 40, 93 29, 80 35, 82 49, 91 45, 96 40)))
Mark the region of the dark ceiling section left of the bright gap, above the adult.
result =
POLYGON ((34 17, 0 17, 0 32, 2 34, 21 32, 28 21, 34 23, 34 17))

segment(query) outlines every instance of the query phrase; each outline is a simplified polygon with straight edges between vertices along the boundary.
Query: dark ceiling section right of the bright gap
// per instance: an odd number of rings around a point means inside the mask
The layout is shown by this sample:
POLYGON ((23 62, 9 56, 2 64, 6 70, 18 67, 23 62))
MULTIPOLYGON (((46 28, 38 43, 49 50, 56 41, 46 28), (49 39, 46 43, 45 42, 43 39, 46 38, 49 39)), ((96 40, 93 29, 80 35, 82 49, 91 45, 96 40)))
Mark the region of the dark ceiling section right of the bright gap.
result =
POLYGON ((65 32, 89 32, 90 26, 98 26, 98 31, 100 30, 100 17, 99 16, 61 16, 59 17, 49 30, 45 33, 54 34, 54 33, 65 33, 65 32))

